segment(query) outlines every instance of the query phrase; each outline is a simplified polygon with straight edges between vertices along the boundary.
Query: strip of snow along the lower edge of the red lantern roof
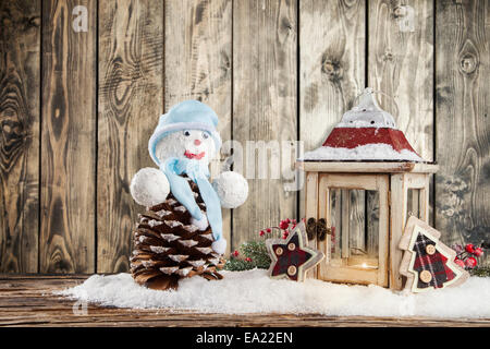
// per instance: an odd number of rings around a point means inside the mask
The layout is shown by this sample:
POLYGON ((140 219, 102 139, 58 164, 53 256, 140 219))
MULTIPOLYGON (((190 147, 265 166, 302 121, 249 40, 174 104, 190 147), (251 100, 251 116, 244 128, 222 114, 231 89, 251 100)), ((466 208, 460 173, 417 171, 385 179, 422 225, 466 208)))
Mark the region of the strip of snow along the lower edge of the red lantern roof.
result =
POLYGON ((335 148, 320 146, 306 152, 299 160, 406 160, 424 161, 414 152, 402 149, 396 152, 390 144, 377 143, 359 145, 355 148, 335 148))

